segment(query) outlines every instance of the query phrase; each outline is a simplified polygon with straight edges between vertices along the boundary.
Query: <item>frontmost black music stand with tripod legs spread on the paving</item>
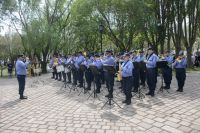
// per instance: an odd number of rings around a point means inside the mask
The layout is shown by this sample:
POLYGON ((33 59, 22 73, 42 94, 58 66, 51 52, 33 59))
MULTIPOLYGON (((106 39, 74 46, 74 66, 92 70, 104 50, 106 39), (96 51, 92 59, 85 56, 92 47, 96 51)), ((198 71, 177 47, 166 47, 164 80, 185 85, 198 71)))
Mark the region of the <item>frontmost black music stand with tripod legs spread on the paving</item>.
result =
MULTIPOLYGON (((108 73, 110 73, 110 74, 115 74, 115 72, 116 72, 114 66, 111 66, 111 65, 104 65, 104 66, 103 66, 103 69, 106 70, 106 71, 107 71, 108 73)), ((110 89, 110 87, 108 87, 108 89, 110 89)), ((113 100, 113 98, 108 97, 108 100, 107 100, 107 101, 105 102, 105 104, 101 107, 101 109, 103 109, 107 104, 108 104, 109 106, 116 104, 118 107, 120 107, 119 104, 118 104, 116 101, 113 100)), ((120 107, 120 108, 122 108, 122 107, 120 107)))

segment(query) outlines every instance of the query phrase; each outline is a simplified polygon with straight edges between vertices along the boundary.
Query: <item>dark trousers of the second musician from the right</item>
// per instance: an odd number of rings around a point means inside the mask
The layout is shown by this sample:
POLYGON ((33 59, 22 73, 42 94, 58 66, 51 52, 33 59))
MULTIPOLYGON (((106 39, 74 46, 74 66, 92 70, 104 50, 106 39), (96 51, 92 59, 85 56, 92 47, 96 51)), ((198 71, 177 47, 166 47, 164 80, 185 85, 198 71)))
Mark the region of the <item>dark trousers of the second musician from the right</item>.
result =
POLYGON ((163 71, 163 79, 164 79, 165 85, 170 87, 171 80, 172 80, 172 68, 166 67, 162 71, 163 71))

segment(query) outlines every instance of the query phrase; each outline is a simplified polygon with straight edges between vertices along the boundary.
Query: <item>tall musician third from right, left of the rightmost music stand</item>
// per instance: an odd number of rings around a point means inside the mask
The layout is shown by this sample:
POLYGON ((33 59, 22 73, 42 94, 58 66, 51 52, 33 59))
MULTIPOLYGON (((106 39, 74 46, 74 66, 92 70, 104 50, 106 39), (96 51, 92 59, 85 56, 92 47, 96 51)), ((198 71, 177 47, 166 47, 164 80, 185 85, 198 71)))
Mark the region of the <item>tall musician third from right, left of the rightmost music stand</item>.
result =
POLYGON ((149 87, 149 92, 146 95, 154 96, 155 88, 156 88, 156 62, 158 61, 158 57, 154 54, 152 48, 148 49, 147 59, 145 60, 147 67, 147 84, 149 87))

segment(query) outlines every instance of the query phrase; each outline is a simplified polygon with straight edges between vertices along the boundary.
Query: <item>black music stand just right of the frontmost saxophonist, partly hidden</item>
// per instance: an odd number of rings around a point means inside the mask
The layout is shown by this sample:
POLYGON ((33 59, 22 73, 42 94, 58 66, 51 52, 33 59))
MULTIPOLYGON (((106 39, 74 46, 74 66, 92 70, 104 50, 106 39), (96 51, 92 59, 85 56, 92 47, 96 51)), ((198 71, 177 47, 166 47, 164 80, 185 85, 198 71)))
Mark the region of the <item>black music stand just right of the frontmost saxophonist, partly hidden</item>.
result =
MULTIPOLYGON (((133 66, 134 66, 135 70, 140 71, 140 67, 141 67, 140 62, 133 62, 133 66)), ((138 86, 138 91, 135 92, 135 94, 133 95, 133 97, 134 96, 137 96, 139 99, 145 98, 145 95, 143 94, 142 88, 140 87, 140 85, 138 86)))

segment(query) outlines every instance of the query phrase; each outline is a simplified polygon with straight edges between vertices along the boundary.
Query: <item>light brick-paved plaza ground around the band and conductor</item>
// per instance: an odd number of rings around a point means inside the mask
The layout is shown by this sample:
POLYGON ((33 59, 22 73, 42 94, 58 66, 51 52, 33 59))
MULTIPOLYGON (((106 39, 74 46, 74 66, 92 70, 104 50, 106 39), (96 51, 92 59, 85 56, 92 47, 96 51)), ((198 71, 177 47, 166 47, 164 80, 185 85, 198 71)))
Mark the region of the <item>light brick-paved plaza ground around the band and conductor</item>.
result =
POLYGON ((121 108, 114 104, 103 109, 105 86, 97 98, 88 99, 88 93, 78 96, 80 88, 70 92, 50 77, 27 78, 28 100, 23 101, 18 100, 16 79, 0 79, 0 133, 200 133, 199 72, 187 73, 183 93, 176 92, 173 77, 169 94, 134 97, 129 106, 122 104, 116 82, 114 100, 121 108))

